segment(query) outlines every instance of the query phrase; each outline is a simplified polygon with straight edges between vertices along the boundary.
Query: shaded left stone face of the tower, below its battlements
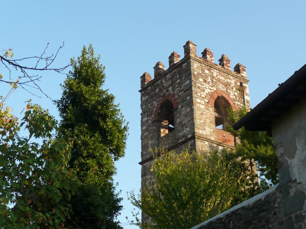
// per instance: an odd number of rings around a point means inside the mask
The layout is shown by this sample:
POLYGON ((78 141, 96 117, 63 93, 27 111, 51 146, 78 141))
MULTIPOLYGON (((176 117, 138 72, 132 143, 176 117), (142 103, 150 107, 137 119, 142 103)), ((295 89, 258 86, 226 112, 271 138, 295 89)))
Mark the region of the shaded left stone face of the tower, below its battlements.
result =
POLYGON ((150 158, 149 146, 169 148, 172 144, 179 143, 190 138, 194 132, 192 120, 192 82, 188 76, 190 66, 188 59, 181 60, 174 67, 164 71, 162 76, 147 83, 141 92, 141 159, 150 158), (189 79, 188 79, 189 78, 189 79), (174 109, 175 131, 159 136, 156 111, 158 105, 171 95, 177 101, 174 109), (179 130, 179 131, 177 131, 179 130))

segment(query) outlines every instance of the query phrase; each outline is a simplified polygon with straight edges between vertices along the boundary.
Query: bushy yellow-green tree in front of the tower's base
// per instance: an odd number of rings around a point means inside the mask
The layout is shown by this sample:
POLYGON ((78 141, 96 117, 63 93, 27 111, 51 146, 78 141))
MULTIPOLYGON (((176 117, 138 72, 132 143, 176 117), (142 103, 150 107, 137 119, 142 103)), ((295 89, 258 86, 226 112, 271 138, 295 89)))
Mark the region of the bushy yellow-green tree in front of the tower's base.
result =
POLYGON ((134 212, 136 221, 131 223, 140 228, 191 228, 227 210, 244 187, 241 169, 216 151, 162 151, 151 172, 152 180, 142 184, 140 194, 128 195, 150 218, 141 222, 134 212))

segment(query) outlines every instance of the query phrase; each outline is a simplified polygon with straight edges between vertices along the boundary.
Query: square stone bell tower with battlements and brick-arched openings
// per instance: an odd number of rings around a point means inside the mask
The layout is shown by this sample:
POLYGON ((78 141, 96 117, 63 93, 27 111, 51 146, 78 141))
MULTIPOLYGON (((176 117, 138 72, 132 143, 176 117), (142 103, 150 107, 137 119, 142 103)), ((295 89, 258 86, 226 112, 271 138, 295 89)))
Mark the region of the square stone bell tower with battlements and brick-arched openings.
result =
POLYGON ((143 182, 151 177, 149 147, 198 152, 232 148, 234 137, 224 130, 226 109, 250 105, 245 66, 238 63, 232 71, 225 54, 215 64, 210 49, 200 57, 191 41, 183 47, 184 57, 171 53, 167 70, 157 62, 153 79, 147 72, 140 77, 143 182))

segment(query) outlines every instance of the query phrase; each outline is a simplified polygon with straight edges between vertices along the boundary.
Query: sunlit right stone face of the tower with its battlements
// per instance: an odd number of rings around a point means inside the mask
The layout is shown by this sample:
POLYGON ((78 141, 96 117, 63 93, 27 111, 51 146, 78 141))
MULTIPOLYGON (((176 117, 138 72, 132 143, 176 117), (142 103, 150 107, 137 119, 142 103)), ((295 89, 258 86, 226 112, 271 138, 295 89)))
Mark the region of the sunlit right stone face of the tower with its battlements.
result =
MULTIPOLYGON (((195 44, 189 42, 187 45, 192 50, 190 52, 196 52, 195 44)), ((231 71, 230 60, 226 55, 222 55, 217 65, 213 59, 205 59, 207 52, 207 49, 204 49, 202 58, 191 55, 191 74, 195 134, 204 139, 197 140, 197 144, 206 145, 206 149, 209 150, 212 142, 234 146, 233 137, 225 131, 221 133, 222 130, 216 129, 215 99, 218 96, 224 96, 233 110, 237 110, 244 104, 249 107, 250 97, 245 67, 237 64, 234 71, 231 71)), ((213 56, 211 51, 210 56, 213 56)))

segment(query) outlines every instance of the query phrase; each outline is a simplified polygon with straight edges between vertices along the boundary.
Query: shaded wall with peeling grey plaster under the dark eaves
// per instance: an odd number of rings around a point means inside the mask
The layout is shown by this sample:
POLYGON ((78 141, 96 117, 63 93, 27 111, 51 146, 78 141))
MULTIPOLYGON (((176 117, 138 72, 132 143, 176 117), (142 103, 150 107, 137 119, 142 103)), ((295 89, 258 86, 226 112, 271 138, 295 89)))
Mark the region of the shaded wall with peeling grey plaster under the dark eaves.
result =
POLYGON ((306 228, 306 97, 272 125, 284 220, 306 228), (296 218, 303 216, 303 223, 296 218))

